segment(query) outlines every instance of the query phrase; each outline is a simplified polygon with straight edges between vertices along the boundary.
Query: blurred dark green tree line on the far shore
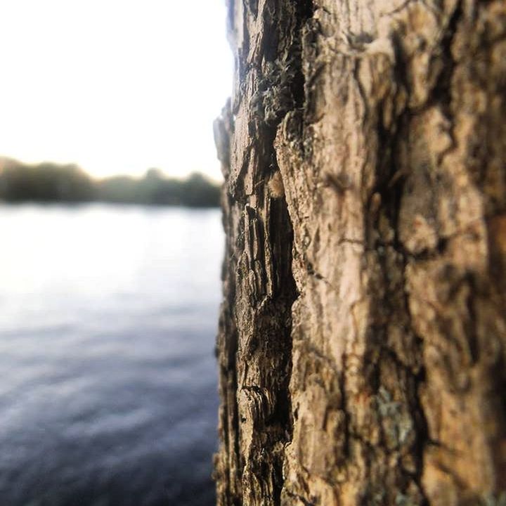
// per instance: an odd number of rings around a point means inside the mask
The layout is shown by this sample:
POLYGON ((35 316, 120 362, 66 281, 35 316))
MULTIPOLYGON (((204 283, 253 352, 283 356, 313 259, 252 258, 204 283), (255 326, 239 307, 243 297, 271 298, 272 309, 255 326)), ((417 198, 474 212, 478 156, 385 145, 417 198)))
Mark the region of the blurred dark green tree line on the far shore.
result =
POLYGON ((220 187, 197 172, 176 179, 148 169, 141 178, 93 179, 75 164, 24 164, 4 158, 0 160, 0 201, 219 207, 220 187))

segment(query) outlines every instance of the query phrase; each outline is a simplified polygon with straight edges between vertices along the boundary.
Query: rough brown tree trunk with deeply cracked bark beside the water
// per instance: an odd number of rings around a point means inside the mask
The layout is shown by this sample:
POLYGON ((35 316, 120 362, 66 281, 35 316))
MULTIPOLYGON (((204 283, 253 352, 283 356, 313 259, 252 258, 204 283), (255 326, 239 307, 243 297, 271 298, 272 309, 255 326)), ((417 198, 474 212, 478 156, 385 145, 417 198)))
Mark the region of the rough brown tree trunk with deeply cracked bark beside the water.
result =
POLYGON ((228 16, 219 505, 505 505, 506 2, 228 16))

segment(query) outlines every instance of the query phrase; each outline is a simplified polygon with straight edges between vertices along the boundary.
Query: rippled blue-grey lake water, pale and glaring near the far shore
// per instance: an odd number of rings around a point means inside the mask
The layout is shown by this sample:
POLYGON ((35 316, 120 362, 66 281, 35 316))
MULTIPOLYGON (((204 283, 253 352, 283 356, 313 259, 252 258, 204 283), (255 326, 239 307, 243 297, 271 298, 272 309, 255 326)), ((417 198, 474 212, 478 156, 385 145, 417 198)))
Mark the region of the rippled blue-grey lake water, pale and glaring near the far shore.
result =
POLYGON ((218 210, 0 206, 0 505, 212 505, 218 210))

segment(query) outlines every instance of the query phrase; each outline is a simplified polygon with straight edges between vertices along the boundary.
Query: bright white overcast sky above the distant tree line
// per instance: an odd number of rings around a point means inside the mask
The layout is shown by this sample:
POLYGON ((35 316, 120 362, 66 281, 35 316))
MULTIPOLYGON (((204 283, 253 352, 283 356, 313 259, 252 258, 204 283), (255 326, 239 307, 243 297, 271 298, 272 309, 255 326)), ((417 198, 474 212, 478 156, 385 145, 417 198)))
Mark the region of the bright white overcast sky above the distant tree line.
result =
POLYGON ((221 179, 225 0, 0 1, 0 155, 221 179))

